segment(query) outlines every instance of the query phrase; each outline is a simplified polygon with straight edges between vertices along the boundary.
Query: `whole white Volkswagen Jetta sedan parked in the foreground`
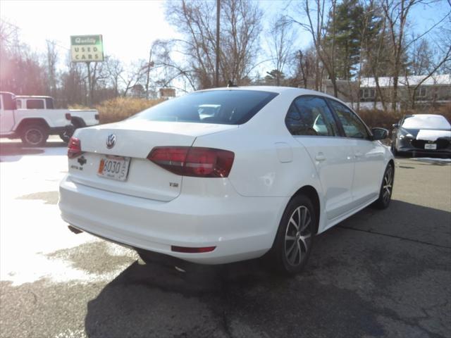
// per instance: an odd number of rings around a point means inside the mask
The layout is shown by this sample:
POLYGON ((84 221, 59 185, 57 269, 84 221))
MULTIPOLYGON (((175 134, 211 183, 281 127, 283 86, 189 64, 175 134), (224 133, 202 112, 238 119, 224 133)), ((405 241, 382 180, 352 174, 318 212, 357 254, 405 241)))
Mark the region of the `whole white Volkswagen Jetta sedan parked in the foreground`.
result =
POLYGON ((206 264, 267 253, 298 273, 315 234, 390 203, 386 136, 319 92, 194 92, 77 130, 59 207, 73 228, 144 260, 149 251, 206 264), (201 114, 205 106, 213 113, 201 114))

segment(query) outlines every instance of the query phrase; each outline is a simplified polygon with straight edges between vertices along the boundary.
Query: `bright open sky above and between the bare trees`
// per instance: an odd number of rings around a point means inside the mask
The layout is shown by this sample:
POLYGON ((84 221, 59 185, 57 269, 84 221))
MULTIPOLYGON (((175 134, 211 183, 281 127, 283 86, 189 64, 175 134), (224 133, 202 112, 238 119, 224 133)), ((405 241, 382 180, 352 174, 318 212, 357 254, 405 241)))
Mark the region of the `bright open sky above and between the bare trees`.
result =
MULTIPOLYGON (((176 0, 174 0, 176 1, 176 0)), ((0 0, 0 16, 20 29, 20 40, 33 51, 44 52, 46 40, 55 40, 61 55, 70 48, 70 35, 103 35, 104 53, 124 63, 147 58, 155 39, 180 37, 164 18, 164 0, 0 0)), ((261 0, 264 27, 287 4, 298 0, 261 0)), ((292 7, 288 8, 292 8, 292 7)), ((417 6, 410 17, 414 30, 421 32, 450 11, 447 0, 433 6, 417 6), (441 15, 441 16, 440 16, 441 15)), ((289 12, 292 13, 291 11, 289 12)), ((297 45, 307 46, 309 35, 299 30, 297 45)), ((63 58, 63 57, 62 57, 63 58)))

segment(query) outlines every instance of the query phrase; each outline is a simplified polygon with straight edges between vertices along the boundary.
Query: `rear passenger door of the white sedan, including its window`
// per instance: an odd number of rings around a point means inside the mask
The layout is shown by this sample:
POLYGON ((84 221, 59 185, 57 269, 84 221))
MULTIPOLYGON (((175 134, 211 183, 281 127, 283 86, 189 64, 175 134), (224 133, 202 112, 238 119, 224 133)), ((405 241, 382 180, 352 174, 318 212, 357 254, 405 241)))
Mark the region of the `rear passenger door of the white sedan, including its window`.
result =
POLYGON ((352 204, 354 161, 350 139, 341 137, 332 111, 321 96, 299 96, 292 102, 285 124, 313 161, 325 194, 329 220, 352 204))

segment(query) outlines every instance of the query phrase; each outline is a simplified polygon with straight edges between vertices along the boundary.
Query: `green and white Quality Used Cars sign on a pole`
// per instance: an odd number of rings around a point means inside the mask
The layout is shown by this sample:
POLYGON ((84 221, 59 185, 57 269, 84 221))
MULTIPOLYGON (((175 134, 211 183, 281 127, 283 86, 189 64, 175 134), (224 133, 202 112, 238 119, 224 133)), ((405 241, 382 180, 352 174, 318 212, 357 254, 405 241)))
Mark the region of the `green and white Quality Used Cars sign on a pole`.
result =
POLYGON ((74 35, 70 37, 72 62, 104 61, 101 35, 74 35))

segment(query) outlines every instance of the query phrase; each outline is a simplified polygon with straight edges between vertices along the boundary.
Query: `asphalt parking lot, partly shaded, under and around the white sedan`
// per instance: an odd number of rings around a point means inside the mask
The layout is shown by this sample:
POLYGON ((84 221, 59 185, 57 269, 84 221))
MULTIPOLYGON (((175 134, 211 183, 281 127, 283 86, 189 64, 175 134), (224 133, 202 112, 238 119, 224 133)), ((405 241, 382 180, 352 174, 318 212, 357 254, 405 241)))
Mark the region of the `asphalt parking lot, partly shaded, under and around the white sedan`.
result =
POLYGON ((316 237, 306 270, 176 270, 59 218, 66 149, 0 143, 0 337, 451 337, 451 163, 397 158, 393 201, 316 237))

